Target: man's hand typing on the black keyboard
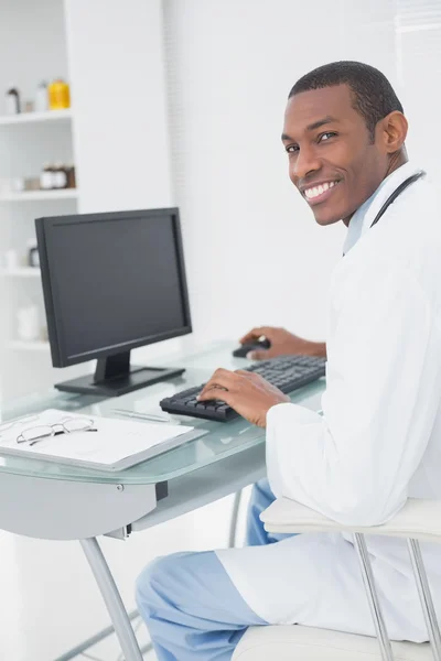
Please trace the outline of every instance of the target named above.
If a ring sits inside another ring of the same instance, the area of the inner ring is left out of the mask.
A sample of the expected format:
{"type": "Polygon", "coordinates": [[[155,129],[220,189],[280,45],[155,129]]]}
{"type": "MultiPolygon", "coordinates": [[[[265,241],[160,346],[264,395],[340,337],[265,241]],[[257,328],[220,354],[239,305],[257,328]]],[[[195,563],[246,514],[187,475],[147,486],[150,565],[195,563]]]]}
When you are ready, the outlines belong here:
{"type": "Polygon", "coordinates": [[[291,401],[260,375],[239,369],[217,369],[205,384],[200,401],[222,400],[257,426],[267,426],[267,413],[276,404],[291,401]]]}

